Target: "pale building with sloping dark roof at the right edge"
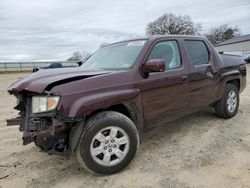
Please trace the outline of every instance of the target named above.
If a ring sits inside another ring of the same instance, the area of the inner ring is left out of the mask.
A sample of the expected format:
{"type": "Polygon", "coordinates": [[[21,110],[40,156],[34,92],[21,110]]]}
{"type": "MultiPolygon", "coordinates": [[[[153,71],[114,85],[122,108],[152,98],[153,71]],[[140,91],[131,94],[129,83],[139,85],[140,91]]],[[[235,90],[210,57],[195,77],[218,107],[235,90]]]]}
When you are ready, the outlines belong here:
{"type": "Polygon", "coordinates": [[[215,45],[215,49],[220,53],[240,55],[248,58],[250,57],[250,34],[226,40],[215,45]]]}

